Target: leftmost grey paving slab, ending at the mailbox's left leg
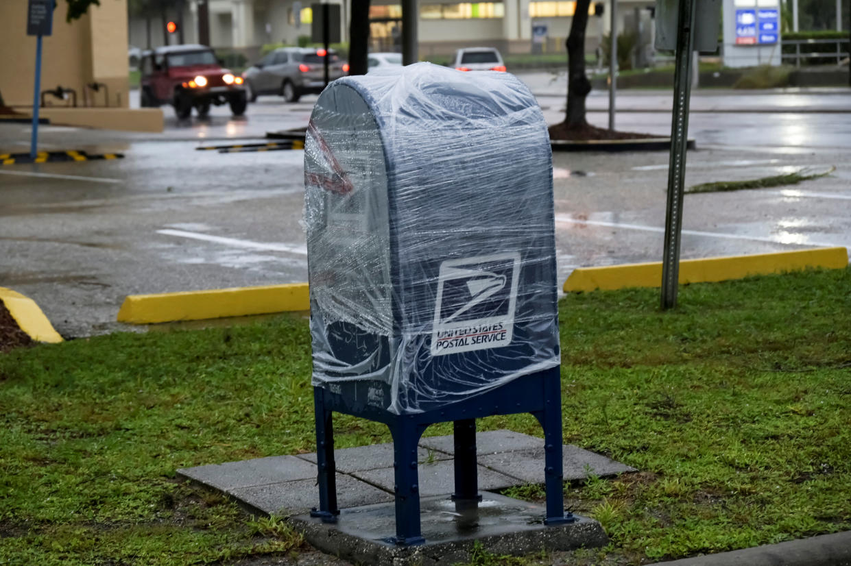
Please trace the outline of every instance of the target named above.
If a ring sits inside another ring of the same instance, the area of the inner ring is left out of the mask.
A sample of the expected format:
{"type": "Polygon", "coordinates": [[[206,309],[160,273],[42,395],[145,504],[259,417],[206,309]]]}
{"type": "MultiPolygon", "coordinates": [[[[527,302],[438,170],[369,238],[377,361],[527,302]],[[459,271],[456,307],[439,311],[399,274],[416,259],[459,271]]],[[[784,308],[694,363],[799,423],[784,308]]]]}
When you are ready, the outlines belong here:
{"type": "Polygon", "coordinates": [[[254,460],[231,461],[226,464],[189,467],[178,470],[184,478],[231,493],[239,488],[256,485],[280,484],[298,479],[317,477],[317,467],[295,456],[269,456],[254,460]]]}

